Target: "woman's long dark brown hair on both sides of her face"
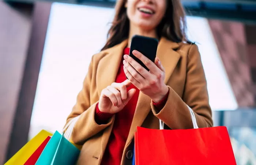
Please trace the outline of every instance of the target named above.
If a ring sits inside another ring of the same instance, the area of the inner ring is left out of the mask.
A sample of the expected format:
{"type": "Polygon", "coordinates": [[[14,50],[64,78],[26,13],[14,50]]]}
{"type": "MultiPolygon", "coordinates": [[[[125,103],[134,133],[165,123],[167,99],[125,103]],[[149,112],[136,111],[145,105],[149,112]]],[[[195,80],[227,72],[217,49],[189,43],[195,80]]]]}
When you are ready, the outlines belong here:
{"type": "MultiPolygon", "coordinates": [[[[113,47],[129,35],[129,19],[126,13],[125,3],[127,0],[118,0],[115,7],[115,15],[108,31],[108,39],[101,50],[113,47]]],[[[173,42],[189,42],[186,36],[185,11],[180,0],[166,0],[167,8],[165,16],[157,27],[158,37],[165,37],[173,42]]]]}

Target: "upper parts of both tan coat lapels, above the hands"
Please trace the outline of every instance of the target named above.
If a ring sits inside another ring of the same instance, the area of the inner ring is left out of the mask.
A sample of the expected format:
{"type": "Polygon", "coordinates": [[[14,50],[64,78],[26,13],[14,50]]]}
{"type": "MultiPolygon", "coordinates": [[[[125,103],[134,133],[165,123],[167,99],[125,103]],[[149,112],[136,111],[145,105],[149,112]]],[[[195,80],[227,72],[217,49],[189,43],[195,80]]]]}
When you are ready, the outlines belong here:
{"type": "MultiPolygon", "coordinates": [[[[99,95],[103,89],[111,85],[111,83],[116,80],[123,50],[127,46],[127,43],[128,41],[124,40],[120,44],[102,52],[105,56],[99,61],[97,70],[97,87],[99,95]]],[[[165,68],[165,83],[170,78],[178,60],[180,59],[180,54],[174,51],[179,46],[180,44],[167,40],[166,38],[161,38],[159,42],[157,56],[165,68]]]]}

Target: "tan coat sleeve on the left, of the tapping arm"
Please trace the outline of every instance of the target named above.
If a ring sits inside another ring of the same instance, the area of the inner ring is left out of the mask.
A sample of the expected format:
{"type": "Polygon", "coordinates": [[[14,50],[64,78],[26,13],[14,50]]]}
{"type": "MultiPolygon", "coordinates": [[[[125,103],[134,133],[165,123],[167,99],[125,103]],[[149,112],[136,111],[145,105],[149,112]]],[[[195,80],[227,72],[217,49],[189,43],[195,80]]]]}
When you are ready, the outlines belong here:
{"type": "Polygon", "coordinates": [[[113,117],[106,124],[98,125],[95,122],[95,109],[98,102],[91,105],[90,101],[91,79],[94,68],[92,58],[83,82],[83,88],[77,96],[76,104],[64,127],[64,135],[69,134],[69,140],[75,144],[83,144],[88,138],[99,133],[113,122],[113,117]]]}

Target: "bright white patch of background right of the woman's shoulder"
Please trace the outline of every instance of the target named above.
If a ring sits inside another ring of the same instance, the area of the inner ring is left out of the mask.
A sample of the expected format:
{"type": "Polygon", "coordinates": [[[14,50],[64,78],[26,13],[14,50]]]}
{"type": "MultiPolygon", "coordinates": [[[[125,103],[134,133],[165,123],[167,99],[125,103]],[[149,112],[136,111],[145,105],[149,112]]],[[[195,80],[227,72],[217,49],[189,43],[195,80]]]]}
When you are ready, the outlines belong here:
{"type": "Polygon", "coordinates": [[[187,17],[187,22],[189,39],[196,42],[201,53],[212,110],[237,109],[237,101],[207,19],[187,17]]]}

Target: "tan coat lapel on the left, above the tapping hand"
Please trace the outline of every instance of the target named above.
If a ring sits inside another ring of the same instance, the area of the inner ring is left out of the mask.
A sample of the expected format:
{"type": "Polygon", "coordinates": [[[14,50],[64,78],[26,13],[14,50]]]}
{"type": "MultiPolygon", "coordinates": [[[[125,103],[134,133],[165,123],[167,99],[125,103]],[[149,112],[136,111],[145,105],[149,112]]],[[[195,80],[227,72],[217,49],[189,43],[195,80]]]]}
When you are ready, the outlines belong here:
{"type": "Polygon", "coordinates": [[[127,46],[127,40],[105,50],[105,56],[99,61],[96,73],[98,94],[111,83],[115,82],[118,68],[123,56],[123,50],[127,46]]]}

